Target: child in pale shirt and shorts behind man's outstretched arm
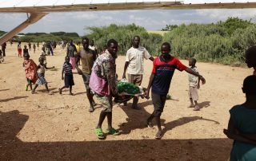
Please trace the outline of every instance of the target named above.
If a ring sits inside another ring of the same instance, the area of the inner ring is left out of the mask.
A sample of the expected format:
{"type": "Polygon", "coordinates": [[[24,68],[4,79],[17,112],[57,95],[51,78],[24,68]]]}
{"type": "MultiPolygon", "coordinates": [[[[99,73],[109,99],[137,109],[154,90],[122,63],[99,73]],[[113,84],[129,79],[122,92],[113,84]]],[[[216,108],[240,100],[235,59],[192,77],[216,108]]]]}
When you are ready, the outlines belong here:
{"type": "MultiPolygon", "coordinates": [[[[195,66],[197,60],[195,58],[190,58],[189,65],[190,69],[195,73],[198,73],[198,69],[195,66]]],[[[199,73],[198,73],[199,74],[199,73]]],[[[200,88],[200,80],[198,77],[189,73],[189,96],[190,96],[190,108],[194,107],[194,111],[199,111],[200,107],[198,106],[198,89],[200,88]]]]}

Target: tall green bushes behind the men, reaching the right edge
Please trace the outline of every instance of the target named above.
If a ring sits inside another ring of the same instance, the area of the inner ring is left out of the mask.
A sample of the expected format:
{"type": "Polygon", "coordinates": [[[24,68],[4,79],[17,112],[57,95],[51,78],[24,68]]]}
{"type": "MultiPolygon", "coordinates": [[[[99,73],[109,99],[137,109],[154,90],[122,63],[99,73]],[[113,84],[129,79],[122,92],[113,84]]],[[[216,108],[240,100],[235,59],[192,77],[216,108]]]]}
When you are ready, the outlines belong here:
{"type": "Polygon", "coordinates": [[[162,42],[171,43],[173,54],[186,59],[218,62],[224,65],[242,65],[248,47],[256,45],[256,24],[239,18],[228,18],[225,22],[166,26],[163,36],[147,33],[146,29],[133,25],[89,27],[87,37],[94,39],[99,47],[114,38],[119,43],[119,52],[125,54],[134,35],[141,37],[141,45],[154,56],[160,54],[162,42]]]}

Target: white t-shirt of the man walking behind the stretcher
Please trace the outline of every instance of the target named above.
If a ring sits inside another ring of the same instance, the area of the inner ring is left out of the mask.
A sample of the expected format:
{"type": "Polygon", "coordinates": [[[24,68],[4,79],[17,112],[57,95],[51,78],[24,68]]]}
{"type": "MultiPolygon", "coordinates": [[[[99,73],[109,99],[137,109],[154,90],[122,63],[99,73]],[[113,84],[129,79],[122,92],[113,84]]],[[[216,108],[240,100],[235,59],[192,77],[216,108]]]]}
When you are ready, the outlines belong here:
{"type": "Polygon", "coordinates": [[[150,53],[146,48],[139,46],[138,49],[131,47],[126,53],[126,61],[129,61],[127,68],[128,74],[143,74],[144,73],[144,59],[149,59],[150,53]]]}

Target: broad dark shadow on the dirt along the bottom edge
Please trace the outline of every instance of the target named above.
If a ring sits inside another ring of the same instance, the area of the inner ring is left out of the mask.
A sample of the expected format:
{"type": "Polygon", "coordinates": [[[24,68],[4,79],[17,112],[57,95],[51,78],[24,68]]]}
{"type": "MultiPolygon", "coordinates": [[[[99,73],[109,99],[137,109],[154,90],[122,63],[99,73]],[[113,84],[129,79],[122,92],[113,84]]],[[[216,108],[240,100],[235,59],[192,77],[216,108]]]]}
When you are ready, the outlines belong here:
{"type": "Polygon", "coordinates": [[[226,160],[232,144],[229,139],[22,142],[16,135],[28,119],[17,110],[0,112],[0,160],[226,160]]]}

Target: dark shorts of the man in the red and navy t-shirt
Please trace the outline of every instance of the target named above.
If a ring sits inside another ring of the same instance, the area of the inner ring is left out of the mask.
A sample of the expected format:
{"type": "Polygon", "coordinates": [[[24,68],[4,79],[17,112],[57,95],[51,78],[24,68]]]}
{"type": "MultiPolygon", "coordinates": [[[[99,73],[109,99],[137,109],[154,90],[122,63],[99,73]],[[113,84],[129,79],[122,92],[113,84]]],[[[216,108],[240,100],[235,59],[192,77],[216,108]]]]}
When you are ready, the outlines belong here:
{"type": "Polygon", "coordinates": [[[151,92],[152,102],[154,104],[154,116],[160,117],[163,111],[163,108],[166,104],[166,95],[159,95],[154,92],[151,92]]]}

